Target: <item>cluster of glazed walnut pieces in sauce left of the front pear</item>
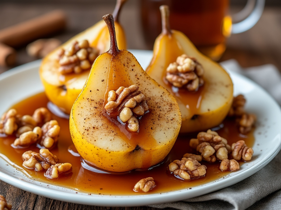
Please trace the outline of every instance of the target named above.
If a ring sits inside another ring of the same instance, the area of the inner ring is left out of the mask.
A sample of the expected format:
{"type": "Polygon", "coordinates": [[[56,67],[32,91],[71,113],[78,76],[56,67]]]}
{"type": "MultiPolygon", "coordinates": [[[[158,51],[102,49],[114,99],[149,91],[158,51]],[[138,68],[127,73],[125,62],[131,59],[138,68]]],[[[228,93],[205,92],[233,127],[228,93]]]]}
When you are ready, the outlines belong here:
{"type": "Polygon", "coordinates": [[[69,163],[58,164],[58,158],[48,150],[56,146],[60,133],[60,126],[56,120],[52,120],[48,109],[38,108],[32,116],[22,116],[16,109],[10,109],[1,117],[0,133],[14,134],[17,138],[12,146],[15,148],[26,148],[35,143],[46,148],[40,149],[39,153],[31,150],[24,152],[22,154],[24,167],[45,171],[48,178],[58,178],[59,174],[71,169],[69,163]]]}

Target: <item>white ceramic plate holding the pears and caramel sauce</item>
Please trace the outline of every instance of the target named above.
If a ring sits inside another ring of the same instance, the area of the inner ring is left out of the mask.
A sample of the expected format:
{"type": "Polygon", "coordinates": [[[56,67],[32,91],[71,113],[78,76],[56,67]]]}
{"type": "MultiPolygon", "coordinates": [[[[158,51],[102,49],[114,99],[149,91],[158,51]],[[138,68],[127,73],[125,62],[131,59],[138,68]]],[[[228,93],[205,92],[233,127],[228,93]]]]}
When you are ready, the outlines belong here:
{"type": "MultiPolygon", "coordinates": [[[[152,52],[143,50],[130,51],[145,69],[149,64],[152,52]]],[[[0,75],[0,115],[16,102],[43,91],[38,75],[39,65],[40,60],[16,67],[0,75]],[[8,103],[3,103],[3,101],[8,101],[8,103]]],[[[6,161],[8,160],[5,161],[0,158],[0,179],[22,190],[52,199],[95,206],[144,206],[172,202],[203,195],[233,185],[259,171],[279,152],[281,148],[281,111],[273,98],[253,81],[239,74],[229,73],[234,82],[234,94],[241,93],[245,95],[247,99],[246,109],[257,115],[259,125],[255,130],[253,160],[243,164],[239,171],[230,173],[226,178],[192,187],[192,189],[162,194],[134,196],[88,195],[87,193],[76,193],[74,190],[31,180],[25,174],[7,164],[6,161]]]]}

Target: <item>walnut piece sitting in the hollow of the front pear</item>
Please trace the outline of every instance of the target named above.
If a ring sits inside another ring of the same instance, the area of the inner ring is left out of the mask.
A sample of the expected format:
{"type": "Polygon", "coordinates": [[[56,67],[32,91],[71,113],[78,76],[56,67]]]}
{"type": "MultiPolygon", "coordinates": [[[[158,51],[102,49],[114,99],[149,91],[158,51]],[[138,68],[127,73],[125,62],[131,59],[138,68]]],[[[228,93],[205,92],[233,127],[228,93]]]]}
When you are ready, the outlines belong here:
{"type": "Polygon", "coordinates": [[[121,86],[116,91],[110,90],[107,101],[105,104],[107,113],[119,116],[123,123],[128,123],[129,130],[133,132],[139,130],[137,118],[148,111],[148,105],[138,85],[127,88],[121,86]]]}

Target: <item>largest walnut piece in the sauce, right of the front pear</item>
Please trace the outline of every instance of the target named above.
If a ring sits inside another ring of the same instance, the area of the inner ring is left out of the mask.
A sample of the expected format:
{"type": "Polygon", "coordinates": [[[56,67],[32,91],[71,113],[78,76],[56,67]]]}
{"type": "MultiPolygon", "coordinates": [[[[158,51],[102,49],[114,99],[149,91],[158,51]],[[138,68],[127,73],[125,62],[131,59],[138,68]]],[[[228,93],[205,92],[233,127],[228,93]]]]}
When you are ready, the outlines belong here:
{"type": "Polygon", "coordinates": [[[191,139],[189,145],[200,152],[203,160],[208,162],[227,159],[228,153],[231,152],[227,140],[210,129],[198,133],[197,139],[191,139]]]}

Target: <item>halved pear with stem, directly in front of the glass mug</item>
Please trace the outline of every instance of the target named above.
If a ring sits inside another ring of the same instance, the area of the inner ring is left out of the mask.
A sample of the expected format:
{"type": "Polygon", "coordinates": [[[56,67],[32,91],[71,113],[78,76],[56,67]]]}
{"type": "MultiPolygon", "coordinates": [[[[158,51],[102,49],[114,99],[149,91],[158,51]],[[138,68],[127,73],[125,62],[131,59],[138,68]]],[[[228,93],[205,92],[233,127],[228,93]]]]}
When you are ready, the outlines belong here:
{"type": "Polygon", "coordinates": [[[200,53],[182,32],[170,29],[168,6],[162,5],[160,11],[162,32],[155,40],[153,58],[146,72],[169,90],[178,102],[182,113],[181,133],[216,127],[226,117],[232,104],[230,76],[218,63],[200,53]],[[203,66],[204,85],[197,91],[173,87],[166,80],[167,67],[183,54],[194,57],[203,66]]]}

